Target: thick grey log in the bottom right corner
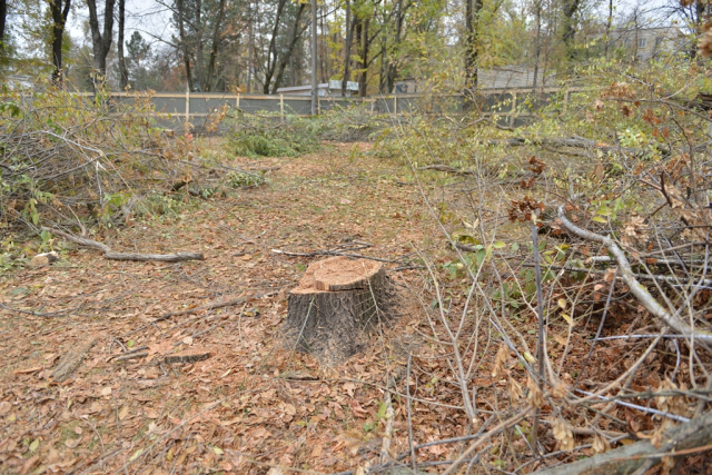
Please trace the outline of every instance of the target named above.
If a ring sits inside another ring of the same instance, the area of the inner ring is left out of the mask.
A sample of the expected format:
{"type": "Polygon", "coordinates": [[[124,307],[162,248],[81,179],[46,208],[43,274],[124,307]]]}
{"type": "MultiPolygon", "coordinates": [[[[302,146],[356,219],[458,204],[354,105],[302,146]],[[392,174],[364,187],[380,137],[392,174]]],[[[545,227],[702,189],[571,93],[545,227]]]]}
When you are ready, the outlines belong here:
{"type": "Polygon", "coordinates": [[[662,445],[655,447],[650,439],[625,445],[604,454],[553,468],[534,472],[537,475],[617,475],[631,474],[643,465],[660,463],[663,457],[684,456],[698,448],[710,449],[712,443],[712,413],[668,431],[662,445]]]}

